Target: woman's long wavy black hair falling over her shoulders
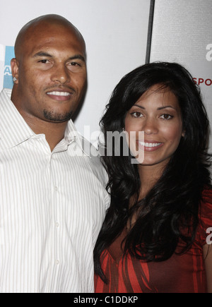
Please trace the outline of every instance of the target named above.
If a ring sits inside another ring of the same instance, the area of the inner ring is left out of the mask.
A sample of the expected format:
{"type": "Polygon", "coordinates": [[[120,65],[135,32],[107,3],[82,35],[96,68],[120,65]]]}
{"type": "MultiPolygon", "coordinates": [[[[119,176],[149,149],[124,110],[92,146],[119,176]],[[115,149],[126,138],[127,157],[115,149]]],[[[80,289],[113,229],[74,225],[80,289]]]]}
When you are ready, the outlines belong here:
{"type": "Polygon", "coordinates": [[[185,136],[155,186],[139,200],[142,185],[137,164],[131,155],[102,156],[109,175],[107,190],[111,205],[98,236],[94,251],[95,273],[106,282],[100,255],[122,233],[136,212],[136,223],[124,240],[124,253],[145,261],[163,261],[177,252],[179,239],[184,242],[179,252],[192,245],[199,224],[202,191],[211,185],[207,153],[209,123],[198,85],[190,73],[175,63],[155,62],[128,73],[112,92],[106,112],[100,121],[107,131],[122,132],[126,112],[153,85],[163,85],[178,99],[185,136]],[[134,205],[129,208],[129,200],[134,205]]]}

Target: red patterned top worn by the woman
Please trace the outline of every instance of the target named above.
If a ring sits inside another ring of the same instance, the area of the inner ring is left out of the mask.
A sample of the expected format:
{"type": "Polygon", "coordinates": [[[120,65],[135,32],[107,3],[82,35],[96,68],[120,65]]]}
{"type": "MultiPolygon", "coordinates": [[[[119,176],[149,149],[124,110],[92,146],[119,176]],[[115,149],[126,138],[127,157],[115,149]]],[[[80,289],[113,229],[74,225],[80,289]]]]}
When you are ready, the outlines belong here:
{"type": "Polygon", "coordinates": [[[184,255],[173,254],[160,263],[145,263],[124,256],[121,243],[126,230],[102,253],[102,270],[108,284],[95,275],[96,293],[206,293],[203,246],[212,227],[212,191],[204,191],[199,227],[192,248],[184,255]]]}

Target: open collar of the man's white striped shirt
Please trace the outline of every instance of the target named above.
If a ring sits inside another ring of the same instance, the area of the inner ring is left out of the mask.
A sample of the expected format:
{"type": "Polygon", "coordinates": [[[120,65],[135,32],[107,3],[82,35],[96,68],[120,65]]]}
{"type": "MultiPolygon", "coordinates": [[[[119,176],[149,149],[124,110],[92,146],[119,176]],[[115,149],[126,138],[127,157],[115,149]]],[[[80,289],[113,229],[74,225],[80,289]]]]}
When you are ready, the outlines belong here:
{"type": "MultiPolygon", "coordinates": [[[[32,137],[36,138],[37,135],[25,122],[13,102],[11,102],[11,90],[2,90],[0,93],[1,148],[13,148],[32,137]]],[[[67,124],[64,140],[68,145],[76,141],[81,151],[90,157],[88,145],[84,145],[83,137],[76,131],[73,121],[71,120],[67,124]]]]}

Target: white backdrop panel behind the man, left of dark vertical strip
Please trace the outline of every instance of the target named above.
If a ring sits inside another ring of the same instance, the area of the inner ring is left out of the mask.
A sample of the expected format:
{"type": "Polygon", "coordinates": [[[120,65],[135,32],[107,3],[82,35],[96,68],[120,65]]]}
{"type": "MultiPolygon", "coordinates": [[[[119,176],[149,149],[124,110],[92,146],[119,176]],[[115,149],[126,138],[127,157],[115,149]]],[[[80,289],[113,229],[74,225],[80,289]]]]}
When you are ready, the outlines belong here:
{"type": "Polygon", "coordinates": [[[0,1],[0,90],[9,73],[4,66],[6,46],[14,45],[29,20],[57,13],[81,31],[87,45],[88,91],[75,124],[93,143],[114,86],[145,62],[150,0],[0,1]],[[90,126],[90,133],[84,126],[90,126]]]}

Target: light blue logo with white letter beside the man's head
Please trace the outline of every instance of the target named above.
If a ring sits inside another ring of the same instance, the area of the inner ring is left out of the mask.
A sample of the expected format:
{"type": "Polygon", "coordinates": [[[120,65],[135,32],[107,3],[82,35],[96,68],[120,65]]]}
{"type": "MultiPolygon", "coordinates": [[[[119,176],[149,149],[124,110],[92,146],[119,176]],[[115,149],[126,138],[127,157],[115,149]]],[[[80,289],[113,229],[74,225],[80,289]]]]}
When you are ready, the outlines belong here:
{"type": "Polygon", "coordinates": [[[11,73],[11,59],[15,57],[14,47],[5,47],[5,61],[4,61],[4,88],[13,88],[13,76],[11,73]]]}

